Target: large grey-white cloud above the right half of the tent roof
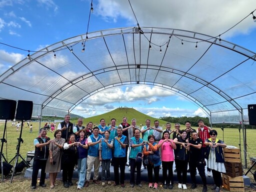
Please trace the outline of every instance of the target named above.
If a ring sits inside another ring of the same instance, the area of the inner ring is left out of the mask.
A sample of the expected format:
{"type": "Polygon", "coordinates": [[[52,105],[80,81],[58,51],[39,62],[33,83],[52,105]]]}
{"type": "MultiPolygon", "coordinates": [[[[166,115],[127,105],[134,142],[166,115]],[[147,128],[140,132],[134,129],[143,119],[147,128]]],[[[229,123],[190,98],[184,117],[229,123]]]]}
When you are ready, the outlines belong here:
{"type": "MultiPolygon", "coordinates": [[[[256,6],[255,0],[132,0],[130,3],[140,26],[184,29],[213,36],[236,24],[256,6]]],[[[109,20],[124,17],[128,20],[127,25],[136,25],[127,1],[99,0],[98,7],[98,14],[109,20]]],[[[246,33],[252,27],[255,25],[249,17],[227,34],[246,33]]]]}

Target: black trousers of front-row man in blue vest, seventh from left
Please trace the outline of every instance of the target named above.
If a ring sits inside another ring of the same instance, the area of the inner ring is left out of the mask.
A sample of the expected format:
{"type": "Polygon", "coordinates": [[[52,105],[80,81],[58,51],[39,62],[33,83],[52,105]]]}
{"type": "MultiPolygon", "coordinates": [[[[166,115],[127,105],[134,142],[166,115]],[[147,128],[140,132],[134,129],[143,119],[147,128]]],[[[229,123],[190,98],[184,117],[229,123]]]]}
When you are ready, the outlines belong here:
{"type": "Polygon", "coordinates": [[[114,182],[116,184],[124,184],[124,169],[126,163],[126,156],[125,157],[113,157],[112,161],[114,163],[114,182]],[[119,167],[120,167],[120,179],[119,179],[119,167]]]}

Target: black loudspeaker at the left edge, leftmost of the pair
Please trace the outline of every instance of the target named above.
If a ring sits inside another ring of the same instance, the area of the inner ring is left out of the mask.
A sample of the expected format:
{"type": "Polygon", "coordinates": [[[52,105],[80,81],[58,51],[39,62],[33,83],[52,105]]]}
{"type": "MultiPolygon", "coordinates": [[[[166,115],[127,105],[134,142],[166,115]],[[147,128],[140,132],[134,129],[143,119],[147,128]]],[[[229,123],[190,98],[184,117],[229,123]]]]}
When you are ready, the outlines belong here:
{"type": "Polygon", "coordinates": [[[0,100],[0,119],[13,119],[16,111],[15,100],[0,100]]]}

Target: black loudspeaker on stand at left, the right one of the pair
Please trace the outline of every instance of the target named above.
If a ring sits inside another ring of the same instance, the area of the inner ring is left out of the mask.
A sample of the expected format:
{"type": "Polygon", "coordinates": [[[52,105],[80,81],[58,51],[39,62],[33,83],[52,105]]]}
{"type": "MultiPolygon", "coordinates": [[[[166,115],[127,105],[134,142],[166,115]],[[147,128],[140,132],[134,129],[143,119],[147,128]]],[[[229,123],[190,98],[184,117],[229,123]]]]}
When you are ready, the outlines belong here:
{"type": "Polygon", "coordinates": [[[29,100],[18,100],[16,119],[30,120],[32,116],[33,102],[29,100]]]}

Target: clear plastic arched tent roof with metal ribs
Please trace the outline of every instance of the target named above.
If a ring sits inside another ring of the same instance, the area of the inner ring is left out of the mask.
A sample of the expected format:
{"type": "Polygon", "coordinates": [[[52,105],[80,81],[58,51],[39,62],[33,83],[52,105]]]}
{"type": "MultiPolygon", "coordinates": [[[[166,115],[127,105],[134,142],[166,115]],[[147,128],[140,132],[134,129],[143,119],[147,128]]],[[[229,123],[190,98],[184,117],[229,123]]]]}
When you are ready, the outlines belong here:
{"type": "Polygon", "coordinates": [[[141,30],[101,30],[41,49],[0,76],[0,97],[32,100],[33,116],[63,116],[102,90],[155,85],[194,102],[213,123],[247,121],[247,104],[256,103],[255,52],[192,31],[141,30]]]}

